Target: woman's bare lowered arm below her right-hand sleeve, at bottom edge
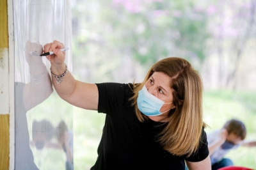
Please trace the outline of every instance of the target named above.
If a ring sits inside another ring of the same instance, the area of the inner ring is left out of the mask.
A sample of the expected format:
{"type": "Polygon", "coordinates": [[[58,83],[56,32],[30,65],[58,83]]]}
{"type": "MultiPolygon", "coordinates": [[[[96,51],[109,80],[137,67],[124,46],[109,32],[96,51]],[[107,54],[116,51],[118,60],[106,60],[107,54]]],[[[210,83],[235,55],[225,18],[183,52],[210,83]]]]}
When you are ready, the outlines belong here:
{"type": "Polygon", "coordinates": [[[211,160],[208,155],[207,158],[201,160],[200,162],[189,162],[185,160],[189,170],[211,170],[211,160]]]}

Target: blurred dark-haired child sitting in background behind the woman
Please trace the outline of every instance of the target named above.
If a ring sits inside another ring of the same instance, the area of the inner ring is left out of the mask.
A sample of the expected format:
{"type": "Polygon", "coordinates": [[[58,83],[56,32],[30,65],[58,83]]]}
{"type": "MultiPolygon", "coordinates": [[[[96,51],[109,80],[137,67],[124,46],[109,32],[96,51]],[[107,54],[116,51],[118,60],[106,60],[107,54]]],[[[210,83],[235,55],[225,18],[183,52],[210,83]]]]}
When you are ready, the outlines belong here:
{"type": "Polygon", "coordinates": [[[235,119],[227,121],[221,130],[207,134],[212,170],[234,165],[230,158],[224,158],[228,151],[239,146],[255,146],[253,144],[255,141],[244,142],[245,137],[246,127],[244,123],[235,119]]]}

